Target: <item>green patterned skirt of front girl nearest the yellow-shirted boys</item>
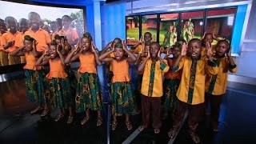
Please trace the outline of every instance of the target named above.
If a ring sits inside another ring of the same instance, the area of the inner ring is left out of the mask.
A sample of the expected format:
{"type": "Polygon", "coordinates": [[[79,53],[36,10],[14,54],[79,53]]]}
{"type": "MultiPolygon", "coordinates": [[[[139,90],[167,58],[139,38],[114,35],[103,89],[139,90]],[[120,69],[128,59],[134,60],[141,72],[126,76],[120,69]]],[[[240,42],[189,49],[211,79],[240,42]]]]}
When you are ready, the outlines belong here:
{"type": "Polygon", "coordinates": [[[130,82],[114,82],[111,85],[112,114],[136,114],[134,94],[130,82]]]}

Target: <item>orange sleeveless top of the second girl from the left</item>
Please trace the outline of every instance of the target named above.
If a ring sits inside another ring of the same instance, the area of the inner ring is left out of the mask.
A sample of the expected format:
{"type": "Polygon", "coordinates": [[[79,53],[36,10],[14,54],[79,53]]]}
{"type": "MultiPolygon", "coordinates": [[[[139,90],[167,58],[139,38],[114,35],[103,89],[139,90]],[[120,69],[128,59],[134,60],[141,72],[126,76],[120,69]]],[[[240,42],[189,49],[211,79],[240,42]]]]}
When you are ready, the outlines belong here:
{"type": "Polygon", "coordinates": [[[46,78],[66,78],[65,66],[62,65],[61,59],[52,60],[49,59],[50,72],[46,75],[46,78]]]}

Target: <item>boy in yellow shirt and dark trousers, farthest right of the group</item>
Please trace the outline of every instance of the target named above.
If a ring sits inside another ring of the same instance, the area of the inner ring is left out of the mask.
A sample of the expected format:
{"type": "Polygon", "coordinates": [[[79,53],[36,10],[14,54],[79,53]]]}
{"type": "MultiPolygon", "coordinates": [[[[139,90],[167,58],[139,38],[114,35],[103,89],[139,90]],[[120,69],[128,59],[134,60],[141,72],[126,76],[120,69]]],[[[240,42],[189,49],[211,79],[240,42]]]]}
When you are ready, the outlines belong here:
{"type": "MultiPolygon", "coordinates": [[[[218,67],[218,74],[206,75],[206,97],[210,98],[211,124],[214,132],[218,132],[218,116],[222,96],[226,93],[228,71],[235,73],[237,66],[230,55],[230,44],[226,40],[218,41],[215,46],[214,60],[218,67]]],[[[208,103],[206,103],[207,106],[208,103]]]]}

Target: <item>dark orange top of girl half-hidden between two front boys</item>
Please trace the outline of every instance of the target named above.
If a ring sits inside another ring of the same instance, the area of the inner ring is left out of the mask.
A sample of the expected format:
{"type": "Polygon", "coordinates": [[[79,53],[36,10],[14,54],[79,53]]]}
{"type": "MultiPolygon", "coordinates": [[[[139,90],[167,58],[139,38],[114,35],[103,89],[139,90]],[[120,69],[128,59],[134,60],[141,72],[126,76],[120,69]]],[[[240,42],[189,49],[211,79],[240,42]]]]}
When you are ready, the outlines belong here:
{"type": "MultiPolygon", "coordinates": [[[[168,66],[172,67],[174,66],[174,60],[171,58],[167,59],[168,66]]],[[[171,69],[168,70],[168,72],[165,74],[165,78],[168,79],[181,79],[182,78],[182,70],[178,70],[177,72],[172,71],[171,69]]]]}

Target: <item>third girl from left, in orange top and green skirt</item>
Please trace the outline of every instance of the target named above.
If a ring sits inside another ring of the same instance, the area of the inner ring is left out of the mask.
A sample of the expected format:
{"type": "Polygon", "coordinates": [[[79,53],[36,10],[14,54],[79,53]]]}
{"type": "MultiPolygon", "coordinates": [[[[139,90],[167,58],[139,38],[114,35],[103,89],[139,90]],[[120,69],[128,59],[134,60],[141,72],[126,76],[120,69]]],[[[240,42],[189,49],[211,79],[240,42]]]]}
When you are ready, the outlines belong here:
{"type": "Polygon", "coordinates": [[[98,54],[92,43],[90,33],[83,34],[81,47],[77,46],[66,57],[65,63],[80,60],[78,69],[78,86],[75,98],[78,113],[86,111],[86,117],[82,119],[81,125],[86,124],[90,118],[90,110],[97,110],[97,126],[102,125],[102,91],[99,84],[96,66],[102,65],[98,60],[98,54]]]}

